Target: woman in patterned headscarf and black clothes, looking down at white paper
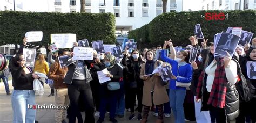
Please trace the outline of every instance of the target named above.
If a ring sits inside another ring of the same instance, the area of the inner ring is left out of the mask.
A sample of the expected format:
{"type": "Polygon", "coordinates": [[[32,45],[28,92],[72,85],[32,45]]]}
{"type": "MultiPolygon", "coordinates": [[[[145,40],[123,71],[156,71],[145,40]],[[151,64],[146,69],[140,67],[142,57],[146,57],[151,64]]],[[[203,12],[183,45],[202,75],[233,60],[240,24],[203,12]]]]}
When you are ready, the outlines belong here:
{"type": "Polygon", "coordinates": [[[107,108],[110,110],[110,121],[117,122],[114,118],[116,113],[117,95],[119,90],[108,90],[107,83],[109,82],[119,82],[123,77],[123,70],[117,64],[117,59],[113,55],[106,55],[105,57],[105,67],[110,74],[111,80],[100,85],[100,107],[99,107],[99,120],[97,123],[103,122],[107,108]]]}

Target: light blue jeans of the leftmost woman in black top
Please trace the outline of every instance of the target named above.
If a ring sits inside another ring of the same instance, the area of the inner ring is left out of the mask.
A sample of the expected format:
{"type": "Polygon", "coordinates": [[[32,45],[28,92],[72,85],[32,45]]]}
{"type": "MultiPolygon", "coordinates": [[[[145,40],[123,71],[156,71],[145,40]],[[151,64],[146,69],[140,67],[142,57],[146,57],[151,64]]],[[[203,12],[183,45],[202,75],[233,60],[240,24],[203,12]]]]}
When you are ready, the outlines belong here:
{"type": "Polygon", "coordinates": [[[35,91],[14,90],[11,95],[12,110],[14,111],[14,123],[35,122],[36,110],[29,109],[28,105],[36,105],[35,91]]]}

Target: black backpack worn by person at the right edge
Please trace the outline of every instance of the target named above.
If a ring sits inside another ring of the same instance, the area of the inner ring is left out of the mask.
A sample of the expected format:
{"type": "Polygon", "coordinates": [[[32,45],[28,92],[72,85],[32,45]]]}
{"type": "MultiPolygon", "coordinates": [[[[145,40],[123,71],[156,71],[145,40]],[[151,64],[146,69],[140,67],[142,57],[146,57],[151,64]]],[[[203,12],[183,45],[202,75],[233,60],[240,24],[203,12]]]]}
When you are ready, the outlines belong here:
{"type": "Polygon", "coordinates": [[[235,83],[235,88],[239,93],[239,100],[242,102],[250,101],[255,92],[255,88],[252,85],[250,79],[246,79],[245,76],[242,74],[241,67],[237,60],[232,59],[237,63],[237,75],[239,77],[238,82],[235,83]]]}

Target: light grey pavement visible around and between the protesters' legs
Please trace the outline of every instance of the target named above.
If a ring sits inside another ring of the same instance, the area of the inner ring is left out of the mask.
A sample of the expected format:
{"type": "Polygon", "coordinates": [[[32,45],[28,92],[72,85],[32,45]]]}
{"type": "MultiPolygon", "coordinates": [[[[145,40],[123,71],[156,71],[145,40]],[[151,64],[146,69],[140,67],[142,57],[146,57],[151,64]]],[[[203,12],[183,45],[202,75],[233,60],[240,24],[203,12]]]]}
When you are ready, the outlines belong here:
{"type": "MultiPolygon", "coordinates": [[[[9,88],[12,92],[12,81],[9,81],[9,88]]],[[[55,105],[55,99],[54,96],[48,97],[50,94],[51,89],[48,85],[44,84],[44,95],[43,96],[36,96],[36,104],[39,105],[55,105]]],[[[137,117],[137,112],[136,117],[137,117]]],[[[82,113],[84,117],[84,113],[82,113]]],[[[125,112],[124,118],[116,118],[118,122],[139,122],[137,118],[134,118],[133,120],[129,120],[128,117],[130,115],[130,112],[125,112]]],[[[153,112],[150,112],[148,123],[155,122],[157,117],[153,116],[153,112]]],[[[37,109],[36,111],[36,120],[40,123],[53,123],[55,122],[55,110],[53,109],[37,109]]],[[[95,117],[95,120],[98,120],[98,117],[95,117]]],[[[68,119],[65,119],[66,122],[68,122],[68,119]]],[[[11,96],[6,95],[5,88],[3,82],[0,82],[0,122],[1,123],[9,123],[12,122],[12,107],[11,107],[11,96]]],[[[109,114],[106,113],[105,115],[105,122],[109,123],[109,114]]],[[[174,122],[174,117],[171,115],[170,118],[164,118],[164,122],[174,122]]],[[[190,122],[194,123],[194,122],[190,122]]]]}

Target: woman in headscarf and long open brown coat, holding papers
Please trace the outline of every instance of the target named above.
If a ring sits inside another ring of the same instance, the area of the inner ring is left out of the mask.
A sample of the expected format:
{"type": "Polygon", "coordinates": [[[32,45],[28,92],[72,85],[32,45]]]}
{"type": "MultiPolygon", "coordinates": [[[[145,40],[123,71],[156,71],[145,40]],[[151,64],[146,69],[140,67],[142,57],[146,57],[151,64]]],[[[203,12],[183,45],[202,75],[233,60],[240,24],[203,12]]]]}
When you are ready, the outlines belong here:
{"type": "MultiPolygon", "coordinates": [[[[164,54],[164,53],[163,53],[164,54]]],[[[168,95],[165,86],[161,85],[161,77],[159,74],[152,74],[163,62],[156,60],[156,54],[153,50],[146,52],[146,63],[143,63],[140,67],[140,78],[144,80],[142,104],[144,105],[142,123],[147,122],[150,106],[153,104],[158,107],[158,119],[156,122],[163,122],[163,104],[168,102],[168,95]],[[153,97],[151,96],[153,92],[153,97]]]]}

